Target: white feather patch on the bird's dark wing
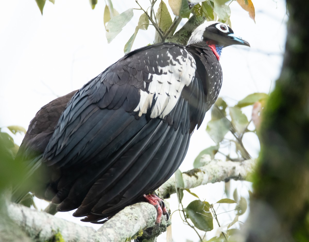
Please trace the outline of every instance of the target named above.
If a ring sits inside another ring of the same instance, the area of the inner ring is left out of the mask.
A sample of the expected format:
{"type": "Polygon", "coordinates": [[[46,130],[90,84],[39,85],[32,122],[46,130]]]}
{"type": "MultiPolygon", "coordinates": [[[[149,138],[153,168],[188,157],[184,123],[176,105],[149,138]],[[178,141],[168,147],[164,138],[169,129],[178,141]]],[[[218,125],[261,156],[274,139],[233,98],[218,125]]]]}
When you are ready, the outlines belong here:
{"type": "MultiPolygon", "coordinates": [[[[138,106],[134,109],[134,111],[139,111],[139,116],[147,112],[154,100],[155,103],[150,117],[164,118],[175,107],[184,86],[188,86],[194,79],[196,71],[195,60],[187,50],[180,49],[180,51],[182,55],[177,56],[176,59],[167,52],[169,61],[176,65],[158,66],[159,72],[162,73],[159,75],[149,73],[148,78],[151,79],[152,77],[152,81],[149,83],[146,91],[139,91],[141,98],[138,106]],[[183,56],[187,56],[187,58],[183,56]]],[[[144,87],[146,87],[146,82],[144,82],[144,87]]]]}

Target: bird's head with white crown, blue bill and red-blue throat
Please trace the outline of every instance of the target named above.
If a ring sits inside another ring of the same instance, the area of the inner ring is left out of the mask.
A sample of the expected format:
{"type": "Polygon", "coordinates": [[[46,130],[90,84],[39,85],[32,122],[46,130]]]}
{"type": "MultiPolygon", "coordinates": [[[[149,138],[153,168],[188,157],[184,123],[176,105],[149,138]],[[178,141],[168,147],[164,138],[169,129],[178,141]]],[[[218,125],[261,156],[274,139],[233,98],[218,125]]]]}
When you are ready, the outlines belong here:
{"type": "Polygon", "coordinates": [[[216,21],[205,21],[193,30],[188,45],[199,44],[209,45],[218,59],[223,47],[230,45],[245,45],[250,47],[249,43],[236,36],[229,26],[216,21]]]}

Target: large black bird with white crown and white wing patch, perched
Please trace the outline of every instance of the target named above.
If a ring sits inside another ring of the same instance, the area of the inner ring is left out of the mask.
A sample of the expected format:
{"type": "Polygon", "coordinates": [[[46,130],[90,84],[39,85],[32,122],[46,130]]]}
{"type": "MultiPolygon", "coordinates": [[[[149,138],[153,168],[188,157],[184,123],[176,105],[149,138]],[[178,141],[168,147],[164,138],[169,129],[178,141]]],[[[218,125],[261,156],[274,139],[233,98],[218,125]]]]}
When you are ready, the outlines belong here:
{"type": "Polygon", "coordinates": [[[104,223],[152,193],[178,169],[190,137],[218,98],[223,47],[250,46],[222,22],[205,21],[188,45],[133,50],[81,89],[37,112],[16,155],[28,190],[57,211],[104,223]]]}

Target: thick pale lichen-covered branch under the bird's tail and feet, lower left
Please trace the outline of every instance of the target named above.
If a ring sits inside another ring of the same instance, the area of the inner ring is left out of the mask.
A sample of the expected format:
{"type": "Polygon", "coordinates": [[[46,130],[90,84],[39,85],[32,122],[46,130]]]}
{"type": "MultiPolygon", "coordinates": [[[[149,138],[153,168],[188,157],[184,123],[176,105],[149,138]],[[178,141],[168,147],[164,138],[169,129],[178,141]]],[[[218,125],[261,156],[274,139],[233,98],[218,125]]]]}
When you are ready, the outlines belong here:
{"type": "Polygon", "coordinates": [[[129,241],[141,235],[143,228],[153,227],[157,216],[153,205],[137,203],[117,213],[96,231],[20,204],[9,204],[7,213],[35,241],[51,241],[60,233],[66,242],[129,241]]]}

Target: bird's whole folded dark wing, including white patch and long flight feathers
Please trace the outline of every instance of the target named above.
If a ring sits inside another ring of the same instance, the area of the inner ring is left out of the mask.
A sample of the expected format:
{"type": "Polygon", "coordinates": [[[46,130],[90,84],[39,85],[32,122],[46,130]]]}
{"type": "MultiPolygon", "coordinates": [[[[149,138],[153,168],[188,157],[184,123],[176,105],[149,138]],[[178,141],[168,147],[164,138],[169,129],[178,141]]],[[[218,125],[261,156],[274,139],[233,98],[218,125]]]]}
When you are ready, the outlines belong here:
{"type": "Polygon", "coordinates": [[[77,208],[87,193],[76,216],[123,206],[172,175],[188,147],[190,110],[180,94],[194,74],[183,46],[158,44],[126,55],[74,95],[43,157],[64,174],[51,188],[59,210],[77,208]]]}

